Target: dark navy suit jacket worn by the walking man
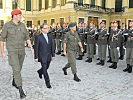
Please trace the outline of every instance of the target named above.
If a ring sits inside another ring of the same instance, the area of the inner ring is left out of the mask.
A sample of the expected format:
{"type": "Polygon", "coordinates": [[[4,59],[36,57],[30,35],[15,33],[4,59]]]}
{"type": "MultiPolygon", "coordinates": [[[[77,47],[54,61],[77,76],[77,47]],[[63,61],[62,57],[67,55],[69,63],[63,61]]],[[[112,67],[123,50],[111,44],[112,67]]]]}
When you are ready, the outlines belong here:
{"type": "Polygon", "coordinates": [[[41,33],[37,36],[35,40],[35,59],[38,58],[39,62],[46,63],[47,61],[51,61],[51,58],[55,56],[53,50],[52,36],[48,35],[48,43],[41,33]]]}

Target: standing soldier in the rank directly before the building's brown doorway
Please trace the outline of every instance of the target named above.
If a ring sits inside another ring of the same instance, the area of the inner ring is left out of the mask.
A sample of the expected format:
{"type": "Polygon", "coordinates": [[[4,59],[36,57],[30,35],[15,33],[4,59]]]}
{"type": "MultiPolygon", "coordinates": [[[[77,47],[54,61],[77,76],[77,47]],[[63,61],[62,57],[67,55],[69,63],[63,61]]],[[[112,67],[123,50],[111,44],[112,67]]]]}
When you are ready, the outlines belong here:
{"type": "Polygon", "coordinates": [[[92,62],[92,58],[94,58],[94,45],[96,43],[95,40],[95,27],[94,27],[94,23],[91,22],[90,23],[90,29],[87,33],[87,53],[88,53],[88,59],[86,60],[86,62],[91,63],[92,62]]]}

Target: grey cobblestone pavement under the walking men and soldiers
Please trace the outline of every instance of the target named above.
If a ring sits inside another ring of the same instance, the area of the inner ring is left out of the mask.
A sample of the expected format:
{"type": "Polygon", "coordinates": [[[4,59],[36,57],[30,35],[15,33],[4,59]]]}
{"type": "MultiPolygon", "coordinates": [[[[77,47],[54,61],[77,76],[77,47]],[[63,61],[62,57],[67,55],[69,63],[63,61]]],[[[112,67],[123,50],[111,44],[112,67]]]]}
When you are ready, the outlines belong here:
{"type": "MultiPolygon", "coordinates": [[[[73,81],[71,70],[64,76],[62,67],[67,62],[66,57],[56,55],[49,68],[52,89],[47,89],[44,80],[40,80],[37,70],[40,64],[35,64],[26,49],[25,62],[22,69],[23,89],[26,92],[24,100],[133,100],[133,73],[124,73],[125,61],[120,61],[116,70],[105,66],[97,66],[96,60],[89,64],[84,60],[77,61],[78,75],[81,82],[73,81]]],[[[97,57],[95,57],[96,59],[97,57]]],[[[11,85],[12,70],[0,57],[0,100],[19,100],[19,92],[11,85]]]]}

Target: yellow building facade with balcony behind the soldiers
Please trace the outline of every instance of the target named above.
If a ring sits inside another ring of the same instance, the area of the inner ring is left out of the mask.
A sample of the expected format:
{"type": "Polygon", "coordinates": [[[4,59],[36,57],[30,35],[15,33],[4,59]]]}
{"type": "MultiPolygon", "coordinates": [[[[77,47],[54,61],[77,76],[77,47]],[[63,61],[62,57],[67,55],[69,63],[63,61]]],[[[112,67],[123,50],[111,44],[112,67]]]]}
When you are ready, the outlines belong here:
{"type": "MultiPolygon", "coordinates": [[[[0,18],[5,23],[10,18],[13,0],[0,1],[4,12],[0,18]]],[[[117,20],[120,26],[124,22],[128,27],[133,19],[133,0],[18,0],[17,3],[27,26],[92,20],[98,25],[105,20],[109,27],[111,21],[117,20]]]]}

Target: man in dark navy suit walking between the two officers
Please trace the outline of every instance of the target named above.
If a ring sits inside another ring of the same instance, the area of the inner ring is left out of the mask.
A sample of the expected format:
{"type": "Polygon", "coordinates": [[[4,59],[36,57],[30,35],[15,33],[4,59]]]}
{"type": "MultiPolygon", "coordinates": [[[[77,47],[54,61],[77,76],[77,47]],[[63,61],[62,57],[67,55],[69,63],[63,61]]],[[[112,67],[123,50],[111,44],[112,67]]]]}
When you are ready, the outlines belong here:
{"type": "Polygon", "coordinates": [[[50,85],[50,79],[48,75],[48,68],[51,60],[55,57],[52,36],[48,34],[49,27],[47,24],[43,24],[40,26],[41,34],[35,40],[35,61],[40,62],[42,68],[37,72],[39,77],[42,79],[42,75],[44,76],[44,80],[47,88],[52,88],[50,85]]]}

